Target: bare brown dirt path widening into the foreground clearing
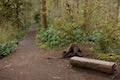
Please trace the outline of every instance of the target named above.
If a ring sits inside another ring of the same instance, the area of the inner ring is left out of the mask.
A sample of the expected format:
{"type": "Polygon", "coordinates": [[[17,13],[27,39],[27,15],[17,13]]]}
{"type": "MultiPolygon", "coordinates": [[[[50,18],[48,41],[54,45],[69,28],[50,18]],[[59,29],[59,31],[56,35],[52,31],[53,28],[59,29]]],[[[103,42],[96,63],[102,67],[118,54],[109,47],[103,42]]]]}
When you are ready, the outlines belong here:
{"type": "Polygon", "coordinates": [[[61,54],[39,49],[31,29],[16,52],[0,60],[0,80],[112,80],[112,75],[71,68],[67,59],[48,59],[61,54]]]}

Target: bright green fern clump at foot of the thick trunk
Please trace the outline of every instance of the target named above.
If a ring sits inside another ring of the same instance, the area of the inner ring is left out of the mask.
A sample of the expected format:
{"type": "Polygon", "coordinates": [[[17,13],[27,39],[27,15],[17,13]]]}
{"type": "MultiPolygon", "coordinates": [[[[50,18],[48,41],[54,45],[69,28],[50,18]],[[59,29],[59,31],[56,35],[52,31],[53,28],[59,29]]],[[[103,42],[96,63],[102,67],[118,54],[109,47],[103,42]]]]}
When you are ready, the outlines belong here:
{"type": "Polygon", "coordinates": [[[41,30],[37,34],[37,39],[45,43],[50,48],[60,47],[61,45],[61,39],[60,39],[59,32],[57,32],[52,27],[49,27],[45,31],[41,30]]]}

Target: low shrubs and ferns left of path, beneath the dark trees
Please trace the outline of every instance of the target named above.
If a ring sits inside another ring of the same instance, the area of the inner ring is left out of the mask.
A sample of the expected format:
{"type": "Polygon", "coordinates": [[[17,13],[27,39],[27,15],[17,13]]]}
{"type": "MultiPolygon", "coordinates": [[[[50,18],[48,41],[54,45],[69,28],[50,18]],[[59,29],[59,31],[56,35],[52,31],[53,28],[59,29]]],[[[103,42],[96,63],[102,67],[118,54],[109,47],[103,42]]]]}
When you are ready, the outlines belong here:
{"type": "Polygon", "coordinates": [[[4,27],[0,27],[0,56],[4,57],[15,50],[19,41],[25,36],[27,27],[18,29],[9,23],[2,26],[4,27]]]}

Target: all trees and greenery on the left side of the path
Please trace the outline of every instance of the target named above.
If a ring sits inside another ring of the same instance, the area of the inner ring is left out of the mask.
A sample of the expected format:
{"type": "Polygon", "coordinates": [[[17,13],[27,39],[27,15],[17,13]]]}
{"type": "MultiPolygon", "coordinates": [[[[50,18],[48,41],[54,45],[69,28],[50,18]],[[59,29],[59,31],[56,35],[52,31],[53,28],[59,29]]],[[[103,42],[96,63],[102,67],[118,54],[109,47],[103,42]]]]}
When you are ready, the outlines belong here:
{"type": "Polygon", "coordinates": [[[25,36],[30,9],[31,3],[25,0],[0,0],[0,56],[13,52],[25,36]]]}

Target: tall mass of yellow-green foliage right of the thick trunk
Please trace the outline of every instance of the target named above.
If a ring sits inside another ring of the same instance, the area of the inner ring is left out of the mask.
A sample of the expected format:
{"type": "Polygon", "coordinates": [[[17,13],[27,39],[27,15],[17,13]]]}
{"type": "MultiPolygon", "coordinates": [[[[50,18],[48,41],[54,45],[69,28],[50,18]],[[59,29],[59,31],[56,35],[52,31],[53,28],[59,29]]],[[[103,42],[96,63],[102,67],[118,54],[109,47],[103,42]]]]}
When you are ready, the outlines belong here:
{"type": "MultiPolygon", "coordinates": [[[[56,45],[59,47],[73,42],[93,42],[98,52],[120,53],[120,29],[117,29],[119,26],[116,22],[117,0],[61,0],[57,5],[53,0],[49,0],[47,15],[48,23],[53,27],[43,33],[39,31],[37,36],[45,35],[38,38],[38,41],[44,38],[43,42],[47,45],[47,42],[53,41],[53,44],[57,40],[56,45]],[[46,32],[49,30],[53,33],[46,32]],[[45,37],[46,35],[50,37],[45,37]]],[[[38,20],[38,17],[35,17],[35,20],[38,20]]]]}

